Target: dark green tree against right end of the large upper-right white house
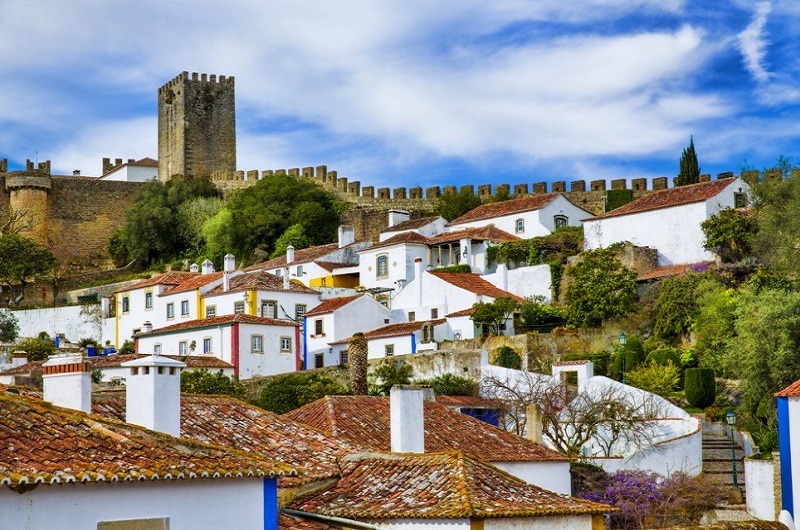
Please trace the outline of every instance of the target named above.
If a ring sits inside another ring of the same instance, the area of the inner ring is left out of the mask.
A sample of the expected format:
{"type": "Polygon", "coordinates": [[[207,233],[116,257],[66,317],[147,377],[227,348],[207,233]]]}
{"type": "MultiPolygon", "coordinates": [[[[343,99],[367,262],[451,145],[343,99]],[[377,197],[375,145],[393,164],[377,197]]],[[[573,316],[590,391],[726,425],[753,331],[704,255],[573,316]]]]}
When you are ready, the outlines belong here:
{"type": "Polygon", "coordinates": [[[700,226],[706,237],[703,247],[722,261],[737,262],[752,255],[752,240],[758,232],[758,224],[749,212],[725,208],[700,226]]]}

